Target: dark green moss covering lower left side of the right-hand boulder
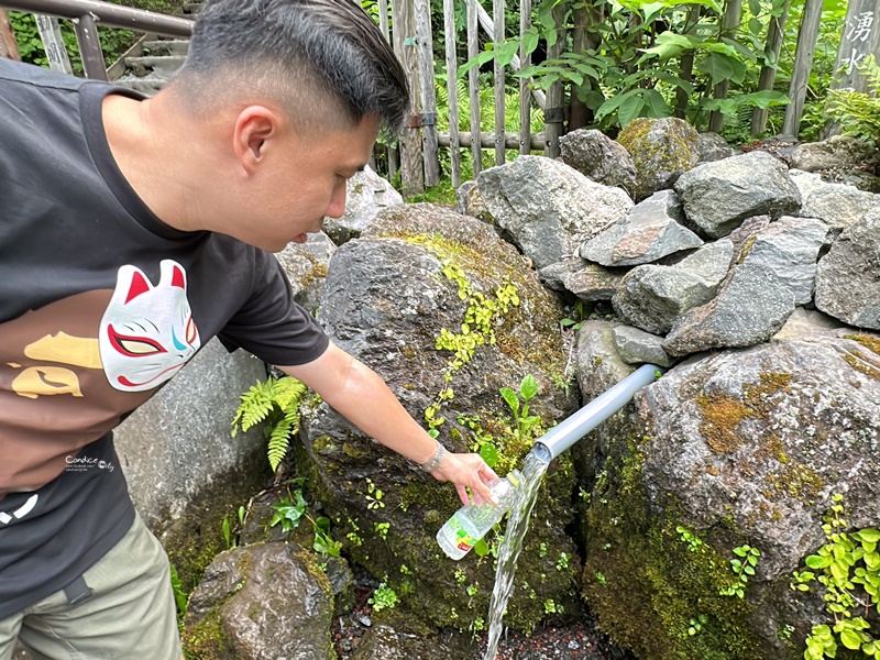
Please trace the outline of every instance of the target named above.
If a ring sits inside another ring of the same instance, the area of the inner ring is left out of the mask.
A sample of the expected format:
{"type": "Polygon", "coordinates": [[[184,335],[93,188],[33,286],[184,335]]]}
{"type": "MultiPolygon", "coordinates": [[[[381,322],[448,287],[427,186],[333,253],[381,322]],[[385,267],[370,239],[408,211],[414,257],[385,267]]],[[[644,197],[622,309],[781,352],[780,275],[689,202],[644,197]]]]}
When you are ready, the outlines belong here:
{"type": "Polygon", "coordinates": [[[718,595],[729,584],[727,557],[711,542],[693,551],[682,540],[674,502],[651,509],[636,442],[612,460],[587,513],[584,594],[603,630],[642,660],[738,660],[765,657],[747,619],[747,601],[718,595]],[[704,616],[698,635],[691,618],[704,616]]]}

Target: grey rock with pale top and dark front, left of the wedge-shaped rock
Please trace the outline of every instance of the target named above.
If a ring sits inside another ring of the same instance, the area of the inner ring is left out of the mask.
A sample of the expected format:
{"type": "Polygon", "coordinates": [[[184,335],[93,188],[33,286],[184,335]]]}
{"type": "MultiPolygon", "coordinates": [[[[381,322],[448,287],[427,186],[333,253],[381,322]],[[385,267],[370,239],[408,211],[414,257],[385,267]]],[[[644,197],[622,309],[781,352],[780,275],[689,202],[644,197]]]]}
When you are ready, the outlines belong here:
{"type": "Polygon", "coordinates": [[[672,266],[636,266],[612,298],[627,323],[666,334],[683,314],[708,302],[727,275],[734,246],[723,239],[701,248],[672,266]]]}

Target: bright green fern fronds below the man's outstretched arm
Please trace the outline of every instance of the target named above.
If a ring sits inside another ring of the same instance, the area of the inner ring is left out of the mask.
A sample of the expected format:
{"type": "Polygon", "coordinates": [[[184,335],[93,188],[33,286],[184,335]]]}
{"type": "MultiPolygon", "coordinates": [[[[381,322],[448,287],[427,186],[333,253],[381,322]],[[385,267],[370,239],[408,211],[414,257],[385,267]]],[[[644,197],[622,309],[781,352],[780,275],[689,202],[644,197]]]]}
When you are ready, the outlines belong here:
{"type": "Polygon", "coordinates": [[[241,404],[232,418],[232,437],[265,422],[264,433],[268,438],[267,457],[272,471],[287,453],[290,438],[299,431],[299,406],[308,388],[292,376],[270,376],[241,395],[241,404]]]}

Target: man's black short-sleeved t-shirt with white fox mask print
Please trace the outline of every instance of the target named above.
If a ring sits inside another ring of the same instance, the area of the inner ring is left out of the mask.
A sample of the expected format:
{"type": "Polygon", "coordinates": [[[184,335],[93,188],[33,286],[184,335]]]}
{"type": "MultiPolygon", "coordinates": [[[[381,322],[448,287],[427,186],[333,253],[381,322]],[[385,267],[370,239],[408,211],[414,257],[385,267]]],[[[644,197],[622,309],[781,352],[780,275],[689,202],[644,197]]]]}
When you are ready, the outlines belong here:
{"type": "Polygon", "coordinates": [[[150,211],[107,143],[111,92],[139,98],[0,58],[0,618],[124,535],[110,431],[211,337],[274,364],[328,345],[273,255],[150,211]]]}

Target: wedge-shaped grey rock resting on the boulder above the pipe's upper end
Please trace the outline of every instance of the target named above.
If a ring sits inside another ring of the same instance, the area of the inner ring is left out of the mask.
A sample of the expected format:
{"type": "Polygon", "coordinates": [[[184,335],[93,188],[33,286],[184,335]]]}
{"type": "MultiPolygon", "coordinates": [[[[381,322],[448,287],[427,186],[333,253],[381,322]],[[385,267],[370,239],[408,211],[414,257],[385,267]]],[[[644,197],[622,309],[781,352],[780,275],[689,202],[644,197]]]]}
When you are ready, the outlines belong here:
{"type": "Polygon", "coordinates": [[[737,266],[712,301],[681,317],[663,342],[671,355],[750,346],[776,334],[794,311],[794,294],[776,271],[737,266]]]}

